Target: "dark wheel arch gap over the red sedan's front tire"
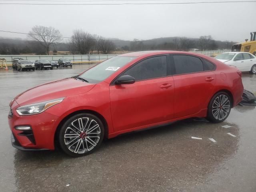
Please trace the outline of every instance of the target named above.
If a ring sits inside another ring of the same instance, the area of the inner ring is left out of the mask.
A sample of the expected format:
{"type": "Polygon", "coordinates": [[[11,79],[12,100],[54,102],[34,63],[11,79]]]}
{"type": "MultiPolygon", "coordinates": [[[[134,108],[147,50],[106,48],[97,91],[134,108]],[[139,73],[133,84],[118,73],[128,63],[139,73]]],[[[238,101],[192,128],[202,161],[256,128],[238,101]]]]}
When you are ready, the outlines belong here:
{"type": "Polygon", "coordinates": [[[77,111],[72,112],[72,113],[68,114],[67,116],[65,116],[58,124],[56,131],[54,133],[54,146],[56,146],[56,144],[58,144],[58,133],[60,132],[60,128],[62,127],[64,122],[71,116],[74,116],[74,115],[80,114],[80,113],[90,113],[90,114],[97,116],[102,121],[102,123],[104,125],[104,139],[108,138],[108,123],[107,123],[106,119],[100,113],[98,113],[94,110],[77,110],[77,111]]]}

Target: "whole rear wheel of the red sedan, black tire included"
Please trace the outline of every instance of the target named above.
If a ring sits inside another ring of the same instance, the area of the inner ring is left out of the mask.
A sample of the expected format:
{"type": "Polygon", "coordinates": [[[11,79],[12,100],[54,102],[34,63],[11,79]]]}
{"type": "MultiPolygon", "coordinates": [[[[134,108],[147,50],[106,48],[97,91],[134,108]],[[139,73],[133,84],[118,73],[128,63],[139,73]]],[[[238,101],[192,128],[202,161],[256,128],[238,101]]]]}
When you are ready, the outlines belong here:
{"type": "Polygon", "coordinates": [[[226,120],[232,108],[232,101],[226,92],[216,93],[208,105],[207,119],[213,123],[220,123],[226,120]],[[218,106],[217,103],[220,103],[218,106]],[[228,108],[229,105],[229,108],[228,108]]]}

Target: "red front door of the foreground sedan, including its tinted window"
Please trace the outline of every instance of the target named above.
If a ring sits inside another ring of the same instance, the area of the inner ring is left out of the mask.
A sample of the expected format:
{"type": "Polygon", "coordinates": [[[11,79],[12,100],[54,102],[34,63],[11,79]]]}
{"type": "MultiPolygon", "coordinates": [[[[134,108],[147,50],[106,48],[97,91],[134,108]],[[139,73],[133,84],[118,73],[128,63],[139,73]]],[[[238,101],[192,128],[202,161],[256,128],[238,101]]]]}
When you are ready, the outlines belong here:
{"type": "Polygon", "coordinates": [[[168,55],[137,62],[122,75],[133,76],[134,84],[110,86],[112,122],[115,131],[150,126],[173,118],[173,78],[168,55]]]}

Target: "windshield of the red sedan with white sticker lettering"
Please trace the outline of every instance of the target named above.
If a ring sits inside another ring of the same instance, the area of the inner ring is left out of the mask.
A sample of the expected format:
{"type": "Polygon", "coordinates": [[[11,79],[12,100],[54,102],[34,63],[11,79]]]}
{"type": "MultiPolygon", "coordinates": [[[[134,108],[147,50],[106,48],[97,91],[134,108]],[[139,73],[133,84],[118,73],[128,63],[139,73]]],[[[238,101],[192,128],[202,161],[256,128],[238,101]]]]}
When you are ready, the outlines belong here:
{"type": "Polygon", "coordinates": [[[132,61],[134,58],[136,57],[116,56],[110,58],[96,65],[95,67],[90,68],[79,77],[87,80],[89,83],[101,82],[119,70],[119,68],[132,61]]]}

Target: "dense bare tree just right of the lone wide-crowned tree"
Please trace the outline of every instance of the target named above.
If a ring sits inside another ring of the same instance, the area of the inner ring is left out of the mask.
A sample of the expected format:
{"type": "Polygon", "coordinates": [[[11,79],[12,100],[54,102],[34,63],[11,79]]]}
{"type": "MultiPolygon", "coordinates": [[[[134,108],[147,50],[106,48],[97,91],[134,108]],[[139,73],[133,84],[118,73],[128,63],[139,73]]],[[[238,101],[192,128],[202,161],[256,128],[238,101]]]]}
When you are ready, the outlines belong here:
{"type": "Polygon", "coordinates": [[[82,54],[87,54],[92,46],[95,44],[95,40],[93,36],[84,32],[83,30],[74,30],[74,34],[72,36],[74,38],[74,44],[76,45],[76,49],[82,54]]]}

